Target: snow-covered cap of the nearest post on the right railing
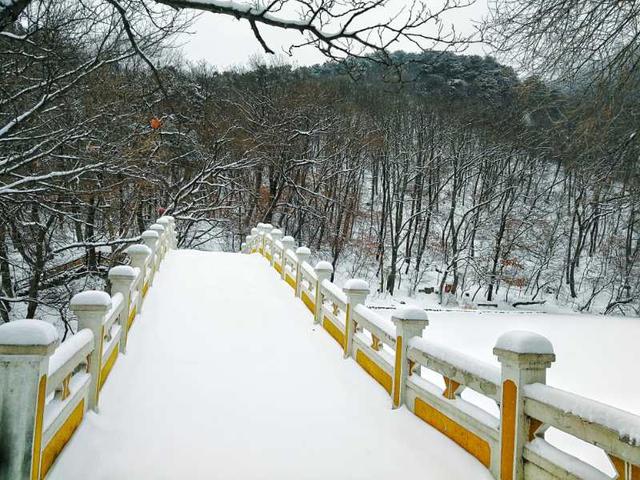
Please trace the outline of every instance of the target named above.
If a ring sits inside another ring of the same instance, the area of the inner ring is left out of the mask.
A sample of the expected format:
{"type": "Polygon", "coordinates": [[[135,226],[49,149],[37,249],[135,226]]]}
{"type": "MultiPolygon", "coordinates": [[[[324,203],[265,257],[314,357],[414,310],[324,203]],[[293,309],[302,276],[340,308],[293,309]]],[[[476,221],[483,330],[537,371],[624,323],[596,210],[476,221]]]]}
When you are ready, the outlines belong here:
{"type": "Polygon", "coordinates": [[[551,342],[542,335],[525,330],[513,330],[498,338],[493,354],[498,360],[515,360],[518,363],[551,366],[556,355],[551,342]]]}

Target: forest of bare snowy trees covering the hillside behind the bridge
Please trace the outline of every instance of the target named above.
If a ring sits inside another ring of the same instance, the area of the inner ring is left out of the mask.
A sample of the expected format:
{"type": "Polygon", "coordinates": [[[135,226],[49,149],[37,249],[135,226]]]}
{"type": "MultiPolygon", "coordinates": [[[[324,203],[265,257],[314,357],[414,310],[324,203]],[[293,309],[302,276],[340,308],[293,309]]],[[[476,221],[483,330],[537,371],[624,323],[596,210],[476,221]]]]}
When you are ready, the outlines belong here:
{"type": "Polygon", "coordinates": [[[548,72],[430,50],[217,72],[176,59],[182,14],[31,2],[0,32],[1,321],[64,321],[159,212],[183,248],[271,222],[380,292],[637,314],[638,37],[608,23],[580,62],[584,32],[544,48],[525,3],[488,34],[548,72]]]}

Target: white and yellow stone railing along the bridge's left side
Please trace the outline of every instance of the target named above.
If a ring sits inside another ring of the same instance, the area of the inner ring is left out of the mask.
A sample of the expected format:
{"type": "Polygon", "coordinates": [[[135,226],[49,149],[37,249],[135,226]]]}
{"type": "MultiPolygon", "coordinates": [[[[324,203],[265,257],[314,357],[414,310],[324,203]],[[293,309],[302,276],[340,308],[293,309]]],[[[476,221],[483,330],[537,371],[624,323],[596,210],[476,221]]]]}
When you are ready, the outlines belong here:
{"type": "Polygon", "coordinates": [[[169,249],[172,217],[161,217],[131,245],[130,265],[109,271],[111,294],[86,291],[71,299],[78,331],[63,343],[41,320],[0,326],[0,480],[43,479],[82,422],[98,411],[100,390],[169,249]]]}

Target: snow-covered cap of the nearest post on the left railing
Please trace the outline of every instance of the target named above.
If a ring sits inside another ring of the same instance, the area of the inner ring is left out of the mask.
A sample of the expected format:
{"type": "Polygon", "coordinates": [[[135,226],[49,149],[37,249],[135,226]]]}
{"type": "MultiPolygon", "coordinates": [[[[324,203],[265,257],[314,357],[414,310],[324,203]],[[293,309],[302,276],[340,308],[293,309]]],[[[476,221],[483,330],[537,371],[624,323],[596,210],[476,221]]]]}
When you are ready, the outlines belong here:
{"type": "Polygon", "coordinates": [[[42,320],[13,320],[0,325],[0,355],[50,355],[59,343],[55,327],[42,320]]]}

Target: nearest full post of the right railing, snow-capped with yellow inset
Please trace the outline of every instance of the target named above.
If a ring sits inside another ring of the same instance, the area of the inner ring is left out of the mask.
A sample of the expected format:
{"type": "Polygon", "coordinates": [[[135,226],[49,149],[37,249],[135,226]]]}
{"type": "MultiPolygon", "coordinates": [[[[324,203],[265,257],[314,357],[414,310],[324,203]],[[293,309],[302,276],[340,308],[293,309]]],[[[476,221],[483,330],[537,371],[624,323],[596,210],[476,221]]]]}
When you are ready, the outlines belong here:
{"type": "Polygon", "coordinates": [[[547,368],[555,361],[553,345],[542,335],[512,331],[498,338],[493,354],[502,366],[500,402],[500,480],[524,478],[523,452],[535,428],[524,414],[522,387],[546,383],[547,368]]]}

